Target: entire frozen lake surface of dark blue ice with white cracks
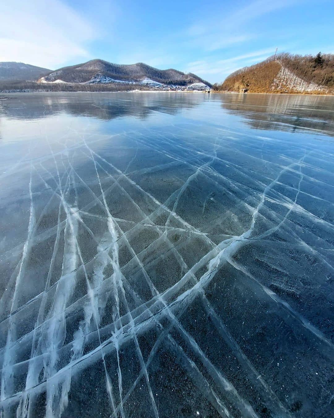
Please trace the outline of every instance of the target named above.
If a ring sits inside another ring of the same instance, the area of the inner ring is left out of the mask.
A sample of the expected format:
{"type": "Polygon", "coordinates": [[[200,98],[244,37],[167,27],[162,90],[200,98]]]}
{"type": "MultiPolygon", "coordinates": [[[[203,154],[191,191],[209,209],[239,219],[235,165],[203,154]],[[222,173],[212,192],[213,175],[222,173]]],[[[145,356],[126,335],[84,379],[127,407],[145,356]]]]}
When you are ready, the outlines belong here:
{"type": "Polygon", "coordinates": [[[333,97],[11,96],[1,416],[334,416],[333,97]]]}

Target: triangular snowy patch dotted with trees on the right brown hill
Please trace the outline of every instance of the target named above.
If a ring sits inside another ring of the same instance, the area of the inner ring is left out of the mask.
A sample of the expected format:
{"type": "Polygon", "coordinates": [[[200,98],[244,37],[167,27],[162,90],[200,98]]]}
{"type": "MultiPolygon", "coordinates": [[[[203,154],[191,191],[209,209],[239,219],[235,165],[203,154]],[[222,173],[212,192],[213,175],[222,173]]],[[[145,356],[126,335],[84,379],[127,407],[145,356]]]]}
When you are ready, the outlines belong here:
{"type": "Polygon", "coordinates": [[[281,69],[278,71],[278,74],[271,85],[271,89],[283,91],[289,90],[294,92],[325,92],[327,90],[319,84],[301,79],[283,65],[281,65],[281,69]]]}

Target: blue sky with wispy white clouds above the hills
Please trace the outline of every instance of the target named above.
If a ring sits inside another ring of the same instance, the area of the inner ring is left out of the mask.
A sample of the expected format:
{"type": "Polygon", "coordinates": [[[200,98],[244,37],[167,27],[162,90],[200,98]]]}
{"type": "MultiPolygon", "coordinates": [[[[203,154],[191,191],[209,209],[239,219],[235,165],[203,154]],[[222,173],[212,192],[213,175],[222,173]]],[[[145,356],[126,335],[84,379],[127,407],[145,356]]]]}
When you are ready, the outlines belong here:
{"type": "Polygon", "coordinates": [[[334,0],[2,2],[0,61],[48,69],[94,58],[221,82],[278,52],[334,53],[334,0]]]}

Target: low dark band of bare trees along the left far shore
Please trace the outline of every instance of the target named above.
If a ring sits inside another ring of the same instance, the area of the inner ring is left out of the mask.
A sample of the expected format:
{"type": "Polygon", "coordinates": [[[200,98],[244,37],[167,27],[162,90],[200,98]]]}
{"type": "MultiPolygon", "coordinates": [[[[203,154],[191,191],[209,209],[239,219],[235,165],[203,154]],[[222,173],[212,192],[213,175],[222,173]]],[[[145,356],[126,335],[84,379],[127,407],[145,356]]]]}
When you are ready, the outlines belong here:
{"type": "Polygon", "coordinates": [[[142,84],[66,84],[35,83],[23,80],[0,82],[0,92],[126,92],[129,90],[154,90],[142,84]]]}

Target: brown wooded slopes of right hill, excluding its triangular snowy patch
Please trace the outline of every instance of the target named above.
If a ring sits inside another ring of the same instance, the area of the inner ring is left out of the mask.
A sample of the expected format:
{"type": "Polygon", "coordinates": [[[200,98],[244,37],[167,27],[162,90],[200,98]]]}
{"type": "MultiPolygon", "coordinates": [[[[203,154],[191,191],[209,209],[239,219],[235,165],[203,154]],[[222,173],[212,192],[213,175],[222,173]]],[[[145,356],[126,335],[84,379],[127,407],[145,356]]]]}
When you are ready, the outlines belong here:
{"type": "MultiPolygon", "coordinates": [[[[253,93],[276,92],[276,80],[282,66],[305,82],[319,85],[319,91],[315,92],[321,92],[321,87],[322,92],[334,90],[334,55],[322,55],[320,52],[316,56],[288,53],[271,56],[258,64],[238,69],[226,77],[223,83],[214,84],[213,89],[234,92],[248,89],[253,93]]],[[[289,88],[279,90],[283,91],[288,92],[289,88]]]]}

